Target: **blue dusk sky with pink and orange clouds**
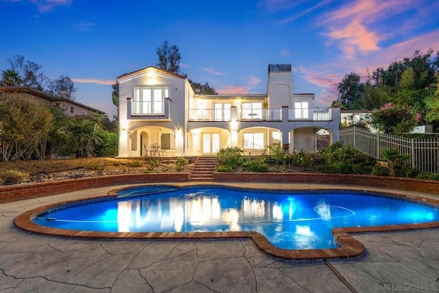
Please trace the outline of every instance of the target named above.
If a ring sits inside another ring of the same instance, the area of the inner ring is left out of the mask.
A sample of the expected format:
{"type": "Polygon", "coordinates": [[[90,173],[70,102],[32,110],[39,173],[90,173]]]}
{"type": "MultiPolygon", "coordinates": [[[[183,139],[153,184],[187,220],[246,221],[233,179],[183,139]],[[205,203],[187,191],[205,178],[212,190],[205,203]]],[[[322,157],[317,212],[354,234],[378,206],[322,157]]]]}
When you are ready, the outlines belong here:
{"type": "Polygon", "coordinates": [[[112,115],[111,84],[158,62],[167,40],[180,73],[223,94],[265,93],[268,64],[292,64],[294,92],[320,105],[354,71],[439,50],[437,0],[0,0],[0,71],[23,55],[76,101],[112,115]]]}

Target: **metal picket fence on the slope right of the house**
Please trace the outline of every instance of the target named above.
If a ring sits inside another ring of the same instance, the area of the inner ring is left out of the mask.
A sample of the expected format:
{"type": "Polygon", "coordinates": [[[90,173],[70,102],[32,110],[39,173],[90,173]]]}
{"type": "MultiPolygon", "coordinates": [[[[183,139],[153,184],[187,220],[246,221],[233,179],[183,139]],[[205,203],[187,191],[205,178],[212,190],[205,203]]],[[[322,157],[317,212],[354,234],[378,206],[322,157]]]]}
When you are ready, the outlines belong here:
{"type": "Polygon", "coordinates": [[[405,138],[350,127],[340,131],[340,141],[377,160],[382,158],[382,149],[396,149],[401,155],[410,156],[413,168],[427,173],[439,173],[439,137],[437,136],[436,138],[405,138]]]}

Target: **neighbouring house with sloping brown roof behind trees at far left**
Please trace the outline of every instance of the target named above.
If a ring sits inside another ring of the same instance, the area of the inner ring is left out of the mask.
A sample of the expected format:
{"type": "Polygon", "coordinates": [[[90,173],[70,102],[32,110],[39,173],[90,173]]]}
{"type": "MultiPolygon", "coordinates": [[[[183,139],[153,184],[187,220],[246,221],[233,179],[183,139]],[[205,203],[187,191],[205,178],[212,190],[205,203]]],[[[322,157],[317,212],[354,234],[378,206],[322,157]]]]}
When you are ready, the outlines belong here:
{"type": "Polygon", "coordinates": [[[93,107],[89,107],[82,103],[71,100],[68,92],[62,92],[61,97],[55,97],[51,94],[47,94],[46,92],[28,88],[27,86],[0,86],[0,98],[3,96],[3,94],[15,94],[17,97],[21,97],[22,99],[29,99],[36,103],[60,107],[62,110],[64,110],[64,113],[67,116],[71,117],[87,116],[91,112],[106,114],[101,110],[97,110],[93,107]]]}

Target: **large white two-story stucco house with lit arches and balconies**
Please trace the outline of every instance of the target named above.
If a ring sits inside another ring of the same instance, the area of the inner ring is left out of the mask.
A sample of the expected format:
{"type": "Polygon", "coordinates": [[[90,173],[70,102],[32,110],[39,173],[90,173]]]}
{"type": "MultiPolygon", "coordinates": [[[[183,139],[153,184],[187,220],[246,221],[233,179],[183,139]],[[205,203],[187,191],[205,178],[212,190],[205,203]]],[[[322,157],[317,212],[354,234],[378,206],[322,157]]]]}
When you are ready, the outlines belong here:
{"type": "Polygon", "coordinates": [[[117,83],[119,157],[215,155],[227,146],[259,155],[276,144],[314,151],[322,129],[339,140],[340,108],[294,94],[291,64],[268,66],[263,94],[195,94],[186,77],[154,66],[117,83]]]}

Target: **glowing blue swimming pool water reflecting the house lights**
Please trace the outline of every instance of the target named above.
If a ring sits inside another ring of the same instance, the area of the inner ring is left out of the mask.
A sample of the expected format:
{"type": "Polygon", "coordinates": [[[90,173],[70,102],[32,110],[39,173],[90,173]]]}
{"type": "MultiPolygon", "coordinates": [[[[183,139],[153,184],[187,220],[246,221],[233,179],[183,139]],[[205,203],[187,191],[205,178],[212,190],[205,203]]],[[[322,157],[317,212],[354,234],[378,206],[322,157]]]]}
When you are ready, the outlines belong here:
{"type": "Polygon", "coordinates": [[[335,227],[439,220],[438,208],[371,192],[152,186],[118,195],[46,212],[34,222],[83,231],[257,231],[282,249],[323,249],[337,246],[335,227]]]}

